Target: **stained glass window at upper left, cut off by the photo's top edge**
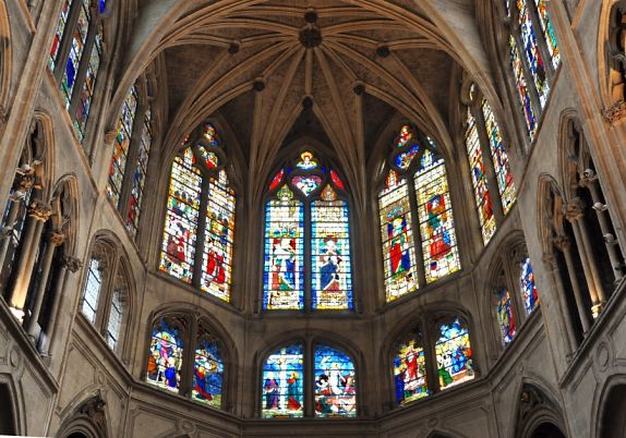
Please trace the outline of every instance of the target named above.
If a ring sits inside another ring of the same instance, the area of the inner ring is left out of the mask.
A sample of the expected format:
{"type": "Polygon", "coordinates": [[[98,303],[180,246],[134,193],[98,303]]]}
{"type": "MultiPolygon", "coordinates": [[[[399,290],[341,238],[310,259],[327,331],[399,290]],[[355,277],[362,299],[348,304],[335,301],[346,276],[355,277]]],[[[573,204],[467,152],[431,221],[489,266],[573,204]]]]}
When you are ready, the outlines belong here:
{"type": "Polygon", "coordinates": [[[104,50],[106,1],[63,0],[48,66],[70,113],[74,134],[85,137],[104,50]]]}

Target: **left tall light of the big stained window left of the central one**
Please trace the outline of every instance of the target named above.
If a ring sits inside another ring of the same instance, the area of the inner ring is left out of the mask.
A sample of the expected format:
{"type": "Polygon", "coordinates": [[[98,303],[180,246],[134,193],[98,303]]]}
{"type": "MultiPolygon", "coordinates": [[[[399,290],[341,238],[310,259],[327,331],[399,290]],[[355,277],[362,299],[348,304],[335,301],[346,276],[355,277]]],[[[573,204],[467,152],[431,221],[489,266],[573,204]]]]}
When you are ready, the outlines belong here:
{"type": "Polygon", "coordinates": [[[191,283],[195,256],[202,175],[191,148],[171,166],[160,269],[191,283]]]}

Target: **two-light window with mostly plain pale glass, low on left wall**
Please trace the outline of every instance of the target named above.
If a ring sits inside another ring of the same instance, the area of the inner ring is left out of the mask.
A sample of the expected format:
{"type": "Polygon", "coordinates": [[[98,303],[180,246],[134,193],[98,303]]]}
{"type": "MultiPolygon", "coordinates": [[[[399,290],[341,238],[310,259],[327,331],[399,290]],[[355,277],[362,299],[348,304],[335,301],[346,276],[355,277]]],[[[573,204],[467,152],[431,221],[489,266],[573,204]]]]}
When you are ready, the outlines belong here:
{"type": "Polygon", "coordinates": [[[128,353],[124,345],[132,315],[131,278],[127,266],[128,259],[119,245],[97,235],[85,266],[80,304],[81,314],[120,356],[128,353]]]}

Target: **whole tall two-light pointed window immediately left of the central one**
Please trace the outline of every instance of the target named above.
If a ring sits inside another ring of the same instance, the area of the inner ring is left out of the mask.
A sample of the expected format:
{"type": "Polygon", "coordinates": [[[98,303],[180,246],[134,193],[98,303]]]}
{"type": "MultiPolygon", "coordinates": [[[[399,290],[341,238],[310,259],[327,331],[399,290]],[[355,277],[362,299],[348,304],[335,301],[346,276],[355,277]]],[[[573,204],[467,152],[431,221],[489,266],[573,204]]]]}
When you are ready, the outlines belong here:
{"type": "Polygon", "coordinates": [[[205,123],[171,166],[159,269],[230,301],[234,192],[216,129],[205,123]]]}

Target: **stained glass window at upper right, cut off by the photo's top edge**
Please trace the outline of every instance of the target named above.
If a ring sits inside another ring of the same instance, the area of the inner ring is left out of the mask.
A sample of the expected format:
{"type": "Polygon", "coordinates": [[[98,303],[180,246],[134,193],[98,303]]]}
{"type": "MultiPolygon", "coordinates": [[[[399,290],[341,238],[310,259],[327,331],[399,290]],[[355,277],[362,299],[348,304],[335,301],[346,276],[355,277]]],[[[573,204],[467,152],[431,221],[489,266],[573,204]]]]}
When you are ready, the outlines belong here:
{"type": "Polygon", "coordinates": [[[515,88],[532,141],[561,63],[561,51],[545,0],[503,3],[515,88]]]}

